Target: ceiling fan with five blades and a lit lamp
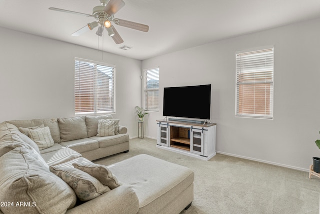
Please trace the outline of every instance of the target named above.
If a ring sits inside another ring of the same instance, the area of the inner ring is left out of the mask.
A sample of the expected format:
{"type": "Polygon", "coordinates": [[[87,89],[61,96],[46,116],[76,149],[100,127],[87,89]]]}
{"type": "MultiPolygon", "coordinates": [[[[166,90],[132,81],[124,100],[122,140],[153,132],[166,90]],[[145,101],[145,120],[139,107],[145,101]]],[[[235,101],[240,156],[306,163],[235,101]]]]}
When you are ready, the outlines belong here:
{"type": "Polygon", "coordinates": [[[125,5],[122,0],[99,0],[99,1],[101,6],[94,7],[92,9],[92,15],[78,13],[74,11],[67,11],[67,10],[58,9],[58,8],[49,8],[49,10],[76,14],[76,15],[81,15],[86,17],[93,17],[97,20],[97,21],[88,23],[83,28],[77,30],[76,32],[71,34],[72,36],[79,36],[88,30],[93,30],[95,27],[98,27],[98,30],[95,34],[101,37],[103,32],[103,27],[104,27],[108,32],[108,35],[115,42],[115,44],[123,43],[122,38],[120,37],[118,32],[115,30],[113,25],[111,25],[111,22],[119,26],[135,29],[138,31],[148,32],[149,26],[147,25],[114,18],[114,14],[118,12],[125,5]]]}

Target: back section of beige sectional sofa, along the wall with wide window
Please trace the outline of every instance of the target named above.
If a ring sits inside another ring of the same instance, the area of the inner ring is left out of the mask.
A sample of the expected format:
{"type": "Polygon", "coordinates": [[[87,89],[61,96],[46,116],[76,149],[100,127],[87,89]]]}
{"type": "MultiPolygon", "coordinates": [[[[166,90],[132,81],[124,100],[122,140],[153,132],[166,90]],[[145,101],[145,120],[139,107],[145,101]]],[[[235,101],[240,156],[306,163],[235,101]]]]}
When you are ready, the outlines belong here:
{"type": "MultiPolygon", "coordinates": [[[[70,148],[88,160],[95,160],[119,152],[129,150],[129,135],[127,128],[118,125],[115,127],[115,134],[110,136],[97,137],[98,121],[112,119],[111,115],[99,116],[79,116],[57,119],[33,119],[33,120],[11,120],[6,121],[22,128],[34,127],[43,124],[49,127],[54,147],[48,150],[41,150],[41,153],[59,149],[61,147],[70,148]]],[[[48,160],[50,154],[44,155],[48,160]]]]}

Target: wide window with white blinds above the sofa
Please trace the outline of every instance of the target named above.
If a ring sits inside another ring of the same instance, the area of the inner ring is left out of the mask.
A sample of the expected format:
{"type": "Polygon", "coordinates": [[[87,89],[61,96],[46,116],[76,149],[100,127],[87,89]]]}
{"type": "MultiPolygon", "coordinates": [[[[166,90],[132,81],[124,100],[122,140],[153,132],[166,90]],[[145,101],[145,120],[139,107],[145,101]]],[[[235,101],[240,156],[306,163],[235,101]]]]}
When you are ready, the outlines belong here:
{"type": "Polygon", "coordinates": [[[75,114],[114,112],[114,72],[114,66],[75,59],[75,114]]]}

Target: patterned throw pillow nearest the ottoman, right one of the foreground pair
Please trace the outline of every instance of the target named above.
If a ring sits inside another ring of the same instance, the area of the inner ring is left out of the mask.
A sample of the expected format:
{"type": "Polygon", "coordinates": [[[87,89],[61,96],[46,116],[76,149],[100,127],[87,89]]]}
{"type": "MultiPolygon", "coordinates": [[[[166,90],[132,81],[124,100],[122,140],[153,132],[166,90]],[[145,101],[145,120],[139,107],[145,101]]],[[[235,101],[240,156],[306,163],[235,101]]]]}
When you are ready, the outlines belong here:
{"type": "Polygon", "coordinates": [[[74,168],[80,169],[95,177],[103,185],[108,186],[110,189],[114,189],[122,183],[112,174],[110,169],[106,166],[95,164],[95,163],[72,163],[74,168]]]}

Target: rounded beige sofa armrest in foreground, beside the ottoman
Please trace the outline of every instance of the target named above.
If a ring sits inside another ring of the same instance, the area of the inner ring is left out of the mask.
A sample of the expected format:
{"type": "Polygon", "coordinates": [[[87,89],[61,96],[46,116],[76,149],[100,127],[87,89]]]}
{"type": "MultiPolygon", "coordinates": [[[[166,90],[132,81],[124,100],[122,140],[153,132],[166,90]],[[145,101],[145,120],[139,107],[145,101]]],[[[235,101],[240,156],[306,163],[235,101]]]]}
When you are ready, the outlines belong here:
{"type": "Polygon", "coordinates": [[[81,205],[67,210],[66,214],[78,213],[136,213],[139,209],[139,200],[134,190],[129,186],[119,186],[100,196],[86,201],[81,205]]]}

